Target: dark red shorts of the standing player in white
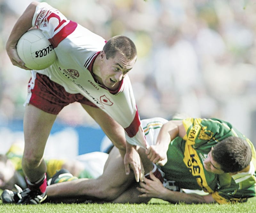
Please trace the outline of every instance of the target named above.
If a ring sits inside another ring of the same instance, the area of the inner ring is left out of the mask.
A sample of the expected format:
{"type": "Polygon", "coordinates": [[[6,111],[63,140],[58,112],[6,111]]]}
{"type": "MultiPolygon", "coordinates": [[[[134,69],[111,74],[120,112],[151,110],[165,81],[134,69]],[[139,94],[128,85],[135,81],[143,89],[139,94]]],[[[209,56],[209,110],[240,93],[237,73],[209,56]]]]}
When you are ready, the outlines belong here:
{"type": "Polygon", "coordinates": [[[63,107],[73,102],[97,107],[82,94],[68,93],[63,86],[53,82],[49,77],[40,73],[36,73],[35,82],[32,82],[32,78],[30,79],[28,82],[28,91],[31,92],[29,104],[51,114],[59,114],[63,107]],[[32,84],[34,84],[33,89],[31,89],[32,84]]]}

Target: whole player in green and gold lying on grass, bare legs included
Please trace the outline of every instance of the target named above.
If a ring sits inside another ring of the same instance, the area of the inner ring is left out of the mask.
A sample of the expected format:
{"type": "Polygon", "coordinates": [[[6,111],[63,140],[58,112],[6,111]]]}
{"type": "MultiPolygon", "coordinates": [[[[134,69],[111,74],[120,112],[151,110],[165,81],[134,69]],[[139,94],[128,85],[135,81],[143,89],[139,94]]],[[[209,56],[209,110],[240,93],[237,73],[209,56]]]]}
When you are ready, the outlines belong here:
{"type": "MultiPolygon", "coordinates": [[[[167,121],[155,118],[143,120],[142,124],[148,143],[155,144],[155,149],[164,148],[168,156],[167,163],[159,166],[164,172],[163,184],[152,173],[149,176],[152,180],[147,175],[143,182],[136,183],[132,174],[125,174],[123,160],[114,147],[98,179],[78,179],[48,186],[49,201],[92,199],[140,203],[155,197],[173,203],[221,204],[245,202],[255,196],[255,148],[230,123],[218,119],[167,121]],[[201,189],[208,194],[186,194],[180,192],[180,188],[201,189]]],[[[152,170],[145,151],[140,148],[138,151],[145,172],[152,170]]],[[[161,179],[159,170],[154,173],[161,179]]],[[[2,199],[12,202],[9,191],[3,194],[2,199]]]]}

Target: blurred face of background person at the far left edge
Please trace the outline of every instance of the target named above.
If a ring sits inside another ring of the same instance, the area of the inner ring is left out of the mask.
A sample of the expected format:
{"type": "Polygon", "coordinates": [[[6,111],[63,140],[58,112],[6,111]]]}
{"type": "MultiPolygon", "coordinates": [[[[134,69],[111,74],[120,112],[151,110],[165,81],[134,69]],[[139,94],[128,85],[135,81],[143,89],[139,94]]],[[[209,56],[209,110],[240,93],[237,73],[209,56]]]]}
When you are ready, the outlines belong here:
{"type": "Polygon", "coordinates": [[[0,162],[0,188],[12,189],[15,169],[9,163],[0,162]]]}

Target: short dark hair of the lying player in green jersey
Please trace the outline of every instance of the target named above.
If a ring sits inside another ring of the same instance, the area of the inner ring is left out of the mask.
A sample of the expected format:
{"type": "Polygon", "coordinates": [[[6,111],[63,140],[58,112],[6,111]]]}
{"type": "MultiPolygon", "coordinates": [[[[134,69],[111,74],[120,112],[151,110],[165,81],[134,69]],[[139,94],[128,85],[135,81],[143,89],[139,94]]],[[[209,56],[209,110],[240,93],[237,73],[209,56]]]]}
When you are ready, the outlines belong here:
{"type": "Polygon", "coordinates": [[[230,136],[212,149],[212,158],[225,173],[239,172],[252,160],[252,149],[243,138],[230,136]]]}

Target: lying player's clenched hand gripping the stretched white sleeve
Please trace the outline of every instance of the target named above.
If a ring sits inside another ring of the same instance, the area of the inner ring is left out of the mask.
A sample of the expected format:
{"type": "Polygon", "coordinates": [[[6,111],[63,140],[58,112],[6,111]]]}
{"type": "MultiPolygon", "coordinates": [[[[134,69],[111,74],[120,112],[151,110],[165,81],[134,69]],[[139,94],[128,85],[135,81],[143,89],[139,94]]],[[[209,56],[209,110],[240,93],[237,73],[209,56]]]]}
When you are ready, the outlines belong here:
{"type": "Polygon", "coordinates": [[[167,150],[162,145],[151,145],[147,150],[146,154],[148,159],[154,164],[165,165],[167,162],[167,150]]]}

